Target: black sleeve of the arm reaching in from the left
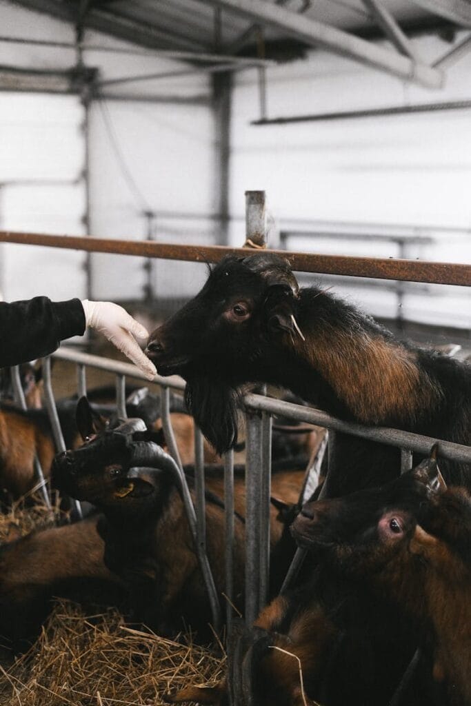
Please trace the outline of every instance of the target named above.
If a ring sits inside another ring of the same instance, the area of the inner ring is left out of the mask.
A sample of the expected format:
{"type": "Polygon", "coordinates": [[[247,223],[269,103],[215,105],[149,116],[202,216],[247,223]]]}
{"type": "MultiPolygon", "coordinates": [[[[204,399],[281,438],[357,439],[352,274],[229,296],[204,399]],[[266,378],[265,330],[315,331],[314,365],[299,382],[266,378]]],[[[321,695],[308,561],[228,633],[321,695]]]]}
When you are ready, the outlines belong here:
{"type": "Polygon", "coordinates": [[[85,332],[80,299],[0,301],[0,368],[42,358],[71,336],[85,332]]]}

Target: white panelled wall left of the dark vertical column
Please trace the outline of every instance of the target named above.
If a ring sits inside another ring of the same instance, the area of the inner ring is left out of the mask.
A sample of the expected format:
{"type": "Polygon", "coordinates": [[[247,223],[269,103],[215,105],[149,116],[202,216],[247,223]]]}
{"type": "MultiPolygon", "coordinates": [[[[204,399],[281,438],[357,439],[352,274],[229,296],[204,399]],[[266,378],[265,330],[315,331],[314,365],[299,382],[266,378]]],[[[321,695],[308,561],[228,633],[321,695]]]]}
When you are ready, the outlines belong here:
{"type": "MultiPolygon", "coordinates": [[[[2,34],[73,42],[73,30],[48,16],[0,0],[2,34]]],[[[85,44],[135,49],[97,32],[85,44]]],[[[138,49],[138,51],[140,51],[138,49]]],[[[189,67],[156,56],[86,51],[87,66],[100,80],[189,67]]],[[[0,64],[25,68],[71,68],[71,49],[2,44],[0,64]]],[[[90,110],[91,233],[117,239],[145,238],[143,210],[207,215],[215,208],[214,135],[210,83],[205,74],[109,85],[109,95],[203,97],[204,104],[105,100],[90,110]]],[[[78,179],[84,165],[84,112],[78,97],[0,92],[0,183],[30,179],[78,179]]],[[[0,188],[0,227],[34,232],[85,234],[83,181],[75,186],[8,185],[0,188]]],[[[160,240],[214,240],[204,218],[156,222],[160,240]]],[[[48,294],[56,299],[85,296],[83,253],[28,246],[0,246],[0,292],[5,299],[48,294]]],[[[142,258],[92,256],[93,297],[140,298],[145,282],[142,258]]],[[[159,296],[191,294],[204,279],[201,265],[156,262],[159,296]]]]}

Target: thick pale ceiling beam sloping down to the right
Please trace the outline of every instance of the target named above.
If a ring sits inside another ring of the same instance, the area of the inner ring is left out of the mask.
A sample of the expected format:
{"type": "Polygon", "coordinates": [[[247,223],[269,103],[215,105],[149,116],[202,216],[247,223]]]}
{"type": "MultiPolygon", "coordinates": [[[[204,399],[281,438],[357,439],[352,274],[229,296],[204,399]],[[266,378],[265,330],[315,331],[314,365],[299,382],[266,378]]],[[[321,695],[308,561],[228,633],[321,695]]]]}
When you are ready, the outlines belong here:
{"type": "Polygon", "coordinates": [[[366,42],[354,35],[325,25],[304,15],[299,16],[278,5],[264,0],[202,0],[217,5],[281,30],[314,47],[321,47],[347,59],[359,61],[393,76],[406,78],[428,88],[439,88],[443,82],[441,71],[412,61],[407,56],[395,54],[390,49],[366,42]]]}

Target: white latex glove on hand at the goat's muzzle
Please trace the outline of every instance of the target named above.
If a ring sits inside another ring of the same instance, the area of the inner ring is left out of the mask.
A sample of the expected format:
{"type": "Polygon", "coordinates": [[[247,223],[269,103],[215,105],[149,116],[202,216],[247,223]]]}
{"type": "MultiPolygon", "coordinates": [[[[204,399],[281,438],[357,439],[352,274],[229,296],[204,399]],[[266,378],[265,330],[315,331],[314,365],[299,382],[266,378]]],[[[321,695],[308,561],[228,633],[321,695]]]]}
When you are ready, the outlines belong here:
{"type": "Polygon", "coordinates": [[[87,327],[100,331],[114,346],[126,355],[133,363],[143,371],[148,380],[152,380],[157,369],[152,361],[145,356],[136,338],[148,338],[149,333],[145,326],[141,325],[129,316],[129,313],[119,304],[111,301],[82,301],[85,312],[85,323],[87,327]]]}

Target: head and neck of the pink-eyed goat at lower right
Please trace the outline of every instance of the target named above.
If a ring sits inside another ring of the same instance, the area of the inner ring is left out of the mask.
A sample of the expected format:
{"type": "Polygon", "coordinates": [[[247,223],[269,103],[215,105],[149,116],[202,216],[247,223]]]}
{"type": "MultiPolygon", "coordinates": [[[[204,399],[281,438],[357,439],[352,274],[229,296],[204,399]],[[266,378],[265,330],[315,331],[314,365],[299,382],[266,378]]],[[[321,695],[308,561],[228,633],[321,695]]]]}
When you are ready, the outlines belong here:
{"type": "Polygon", "coordinates": [[[383,503],[368,490],[308,503],[293,532],[299,544],[321,547],[342,577],[397,604],[417,626],[448,702],[470,705],[471,495],[443,479],[425,484],[428,498],[415,507],[398,484],[381,492],[383,503]]]}

